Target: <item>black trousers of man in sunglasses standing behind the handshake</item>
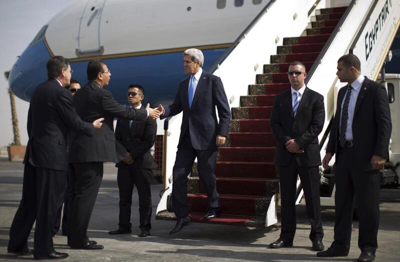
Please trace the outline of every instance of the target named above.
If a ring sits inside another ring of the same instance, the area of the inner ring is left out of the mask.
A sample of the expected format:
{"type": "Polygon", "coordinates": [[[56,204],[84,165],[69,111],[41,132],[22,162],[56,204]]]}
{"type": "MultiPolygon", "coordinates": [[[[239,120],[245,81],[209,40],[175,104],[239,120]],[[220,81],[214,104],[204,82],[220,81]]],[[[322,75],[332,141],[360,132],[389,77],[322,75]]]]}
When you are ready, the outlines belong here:
{"type": "Polygon", "coordinates": [[[136,185],[139,196],[139,228],[151,229],[151,169],[135,168],[132,164],[118,168],[117,182],[119,188],[119,227],[131,228],[130,206],[132,205],[133,186],[136,185]]]}

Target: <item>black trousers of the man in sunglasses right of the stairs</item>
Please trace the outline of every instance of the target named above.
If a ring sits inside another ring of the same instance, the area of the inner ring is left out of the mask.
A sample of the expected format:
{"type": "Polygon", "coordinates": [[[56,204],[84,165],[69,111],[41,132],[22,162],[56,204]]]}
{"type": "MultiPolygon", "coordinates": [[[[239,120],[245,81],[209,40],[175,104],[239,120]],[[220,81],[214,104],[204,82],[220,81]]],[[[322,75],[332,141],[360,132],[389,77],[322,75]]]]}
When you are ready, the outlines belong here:
{"type": "Polygon", "coordinates": [[[296,181],[300,176],[301,186],[305,196],[305,208],[311,224],[309,239],[323,238],[321,207],[319,200],[319,170],[318,166],[298,166],[294,156],[287,166],[279,166],[280,183],[280,238],[293,241],[296,232],[296,181]]]}

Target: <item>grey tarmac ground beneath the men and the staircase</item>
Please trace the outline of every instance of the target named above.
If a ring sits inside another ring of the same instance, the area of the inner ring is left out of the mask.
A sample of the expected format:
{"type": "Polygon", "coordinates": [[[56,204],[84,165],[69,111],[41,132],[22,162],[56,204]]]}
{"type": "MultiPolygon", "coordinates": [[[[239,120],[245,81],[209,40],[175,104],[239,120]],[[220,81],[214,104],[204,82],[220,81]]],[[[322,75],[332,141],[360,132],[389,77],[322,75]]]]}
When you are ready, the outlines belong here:
{"type": "MultiPolygon", "coordinates": [[[[0,158],[0,261],[33,260],[32,256],[7,253],[8,231],[18,207],[22,190],[23,164],[0,158]]],[[[162,184],[151,185],[153,217],[162,184]]],[[[118,227],[118,187],[116,168],[104,164],[104,177],[91,216],[87,235],[104,245],[103,250],[74,250],[66,245],[66,237],[59,231],[53,238],[57,251],[67,252],[63,261],[355,261],[360,251],[357,247],[358,222],[353,223],[351,248],[347,257],[319,258],[311,250],[308,239],[309,223],[305,206],[297,206],[297,231],[294,246],[270,249],[268,244],[279,237],[280,223],[267,228],[249,228],[229,225],[192,223],[170,236],[173,221],[152,219],[151,236],[138,237],[138,198],[133,191],[132,233],[109,235],[118,227]]],[[[400,187],[390,186],[381,190],[379,247],[375,261],[400,260],[400,187]]],[[[279,213],[278,213],[279,219],[279,213]]],[[[322,211],[324,226],[323,243],[327,248],[333,240],[333,209],[322,211]]],[[[33,247],[33,231],[28,246],[33,247]]]]}

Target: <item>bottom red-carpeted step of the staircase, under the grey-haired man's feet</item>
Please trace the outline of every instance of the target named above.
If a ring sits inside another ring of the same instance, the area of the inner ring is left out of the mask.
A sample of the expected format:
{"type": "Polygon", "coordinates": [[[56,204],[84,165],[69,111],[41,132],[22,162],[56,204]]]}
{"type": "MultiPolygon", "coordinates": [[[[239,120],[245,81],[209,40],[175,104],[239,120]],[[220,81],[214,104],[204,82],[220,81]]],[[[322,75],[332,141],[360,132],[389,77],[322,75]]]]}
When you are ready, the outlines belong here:
{"type": "MultiPolygon", "coordinates": [[[[247,227],[265,227],[265,217],[262,216],[241,216],[221,215],[211,220],[204,219],[205,213],[190,213],[193,222],[210,224],[241,225],[247,227]]],[[[156,220],[176,220],[175,214],[171,212],[159,212],[155,215],[156,220]]]]}

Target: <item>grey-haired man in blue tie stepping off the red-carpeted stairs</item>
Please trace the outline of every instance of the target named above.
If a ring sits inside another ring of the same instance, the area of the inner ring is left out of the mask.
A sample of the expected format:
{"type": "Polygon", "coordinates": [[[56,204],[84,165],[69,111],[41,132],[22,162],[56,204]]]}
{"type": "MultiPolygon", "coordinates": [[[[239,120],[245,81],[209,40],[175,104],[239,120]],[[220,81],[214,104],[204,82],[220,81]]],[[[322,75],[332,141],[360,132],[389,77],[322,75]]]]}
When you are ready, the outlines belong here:
{"type": "Polygon", "coordinates": [[[170,234],[191,223],[188,215],[191,206],[186,201],[186,183],[196,157],[198,176],[208,196],[208,213],[204,219],[212,219],[220,214],[219,194],[213,171],[217,146],[224,144],[228,135],[230,108],[221,79],[203,71],[203,61],[204,56],[198,49],[191,48],[183,52],[184,71],[190,77],[179,83],[173,103],[163,108],[162,117],[183,111],[178,150],[172,170],[172,208],[177,221],[170,234]],[[218,109],[219,123],[215,106],[218,109]]]}

